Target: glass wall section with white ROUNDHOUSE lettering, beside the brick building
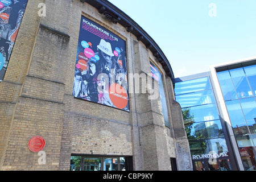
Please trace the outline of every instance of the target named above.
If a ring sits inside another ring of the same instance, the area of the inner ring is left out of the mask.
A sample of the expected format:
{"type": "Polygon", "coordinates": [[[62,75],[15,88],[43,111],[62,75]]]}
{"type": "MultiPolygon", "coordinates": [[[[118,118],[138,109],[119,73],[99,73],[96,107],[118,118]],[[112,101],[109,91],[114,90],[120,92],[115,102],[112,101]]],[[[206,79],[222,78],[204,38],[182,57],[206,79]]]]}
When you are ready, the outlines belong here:
{"type": "Polygon", "coordinates": [[[183,112],[194,169],[230,170],[229,151],[209,77],[176,82],[175,97],[183,112]],[[220,160],[218,164],[208,163],[212,154],[220,160]],[[226,165],[221,167],[221,162],[226,165]]]}

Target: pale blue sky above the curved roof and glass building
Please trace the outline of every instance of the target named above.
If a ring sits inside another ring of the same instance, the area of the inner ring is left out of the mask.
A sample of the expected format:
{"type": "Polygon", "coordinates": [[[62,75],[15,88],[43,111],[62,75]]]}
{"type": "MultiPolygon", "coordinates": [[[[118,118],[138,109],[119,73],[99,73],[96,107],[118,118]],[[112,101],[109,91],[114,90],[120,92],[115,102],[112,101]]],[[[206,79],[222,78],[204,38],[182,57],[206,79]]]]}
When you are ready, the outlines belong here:
{"type": "Polygon", "coordinates": [[[175,77],[256,56],[256,0],[109,1],[155,40],[175,77]]]}

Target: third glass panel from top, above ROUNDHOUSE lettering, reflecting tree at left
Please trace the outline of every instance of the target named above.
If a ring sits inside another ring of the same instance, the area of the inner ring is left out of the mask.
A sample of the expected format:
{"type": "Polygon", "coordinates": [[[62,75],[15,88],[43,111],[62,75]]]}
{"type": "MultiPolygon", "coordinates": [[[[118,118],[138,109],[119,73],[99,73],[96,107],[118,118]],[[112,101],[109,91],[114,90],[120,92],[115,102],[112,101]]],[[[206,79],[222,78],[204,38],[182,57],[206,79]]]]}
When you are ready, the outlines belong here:
{"type": "Polygon", "coordinates": [[[220,119],[216,104],[187,107],[183,108],[182,111],[185,124],[220,119]],[[189,113],[189,117],[186,117],[184,113],[189,113]]]}

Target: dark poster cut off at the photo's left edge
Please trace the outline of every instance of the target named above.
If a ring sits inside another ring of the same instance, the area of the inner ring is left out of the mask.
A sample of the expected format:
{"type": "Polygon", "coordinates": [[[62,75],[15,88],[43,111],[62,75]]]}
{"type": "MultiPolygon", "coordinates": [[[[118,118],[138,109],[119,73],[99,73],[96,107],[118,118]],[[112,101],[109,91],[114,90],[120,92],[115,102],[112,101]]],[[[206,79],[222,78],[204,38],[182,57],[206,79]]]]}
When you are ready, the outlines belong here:
{"type": "Polygon", "coordinates": [[[0,0],[0,82],[18,34],[28,0],[0,0]]]}

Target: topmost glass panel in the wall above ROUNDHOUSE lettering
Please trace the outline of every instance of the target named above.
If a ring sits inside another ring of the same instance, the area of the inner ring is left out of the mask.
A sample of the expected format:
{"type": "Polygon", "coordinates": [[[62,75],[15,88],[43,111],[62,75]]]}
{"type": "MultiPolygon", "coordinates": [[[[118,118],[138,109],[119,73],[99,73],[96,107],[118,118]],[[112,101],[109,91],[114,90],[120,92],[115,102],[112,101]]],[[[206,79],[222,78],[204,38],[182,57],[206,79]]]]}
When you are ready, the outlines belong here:
{"type": "Polygon", "coordinates": [[[179,95],[208,89],[211,89],[209,78],[203,77],[194,80],[176,82],[174,92],[176,95],[179,95]]]}

